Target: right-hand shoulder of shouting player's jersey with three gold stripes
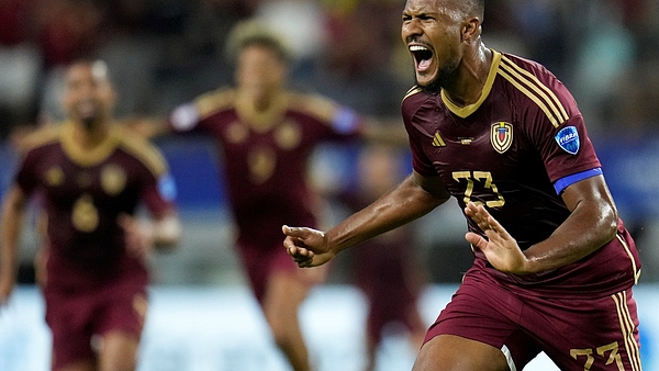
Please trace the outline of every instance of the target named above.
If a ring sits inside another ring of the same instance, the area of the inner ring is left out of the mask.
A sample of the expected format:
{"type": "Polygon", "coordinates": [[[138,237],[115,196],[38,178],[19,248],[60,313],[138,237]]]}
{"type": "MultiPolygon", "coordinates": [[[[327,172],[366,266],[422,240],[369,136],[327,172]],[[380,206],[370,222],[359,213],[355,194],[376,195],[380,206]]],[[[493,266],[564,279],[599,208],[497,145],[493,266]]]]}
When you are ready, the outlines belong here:
{"type": "Polygon", "coordinates": [[[574,98],[545,66],[512,54],[501,54],[498,75],[518,97],[521,106],[540,111],[554,126],[578,115],[574,98]]]}

